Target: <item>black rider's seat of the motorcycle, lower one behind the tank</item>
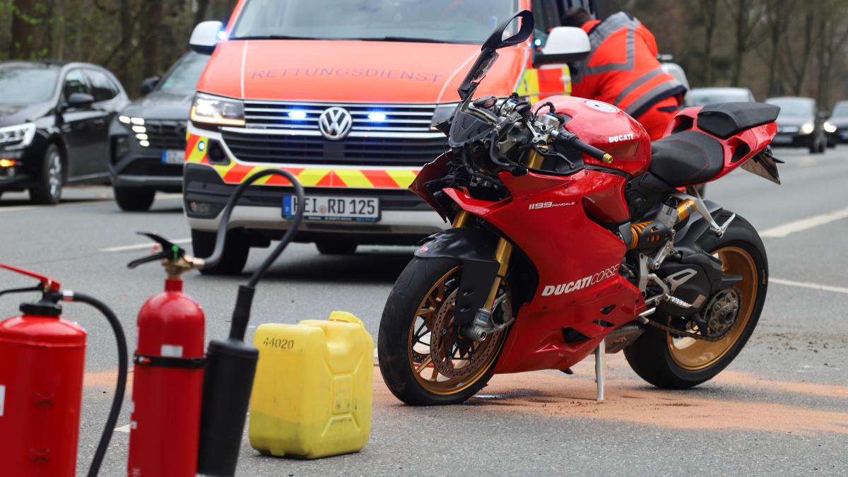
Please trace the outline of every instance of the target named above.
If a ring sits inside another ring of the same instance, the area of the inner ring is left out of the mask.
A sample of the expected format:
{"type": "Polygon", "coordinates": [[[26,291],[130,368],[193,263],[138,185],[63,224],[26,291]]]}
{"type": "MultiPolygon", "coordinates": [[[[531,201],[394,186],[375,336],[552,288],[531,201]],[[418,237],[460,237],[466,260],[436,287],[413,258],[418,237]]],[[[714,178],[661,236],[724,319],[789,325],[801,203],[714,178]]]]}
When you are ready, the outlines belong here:
{"type": "Polygon", "coordinates": [[[650,143],[649,171],[675,188],[709,181],[722,166],[722,144],[703,132],[678,132],[650,143]]]}

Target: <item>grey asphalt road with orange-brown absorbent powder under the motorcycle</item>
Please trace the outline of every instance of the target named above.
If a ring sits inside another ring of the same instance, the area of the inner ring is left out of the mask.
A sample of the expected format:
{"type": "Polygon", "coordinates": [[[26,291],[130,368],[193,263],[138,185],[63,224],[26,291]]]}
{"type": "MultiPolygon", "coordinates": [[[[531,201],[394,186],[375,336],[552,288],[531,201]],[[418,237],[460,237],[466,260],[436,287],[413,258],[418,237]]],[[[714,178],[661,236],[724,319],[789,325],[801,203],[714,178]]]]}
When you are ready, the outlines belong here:
{"type": "MultiPolygon", "coordinates": [[[[388,394],[375,368],[373,429],[364,451],[287,460],[261,457],[245,440],[238,474],[845,474],[848,148],[824,155],[778,149],[777,155],[787,162],[780,167],[782,186],[738,171],[707,188],[710,199],[764,233],[772,277],[755,334],[717,379],[695,390],[656,390],[617,354],[610,356],[611,381],[600,404],[589,358],[574,376],[496,376],[467,405],[411,408],[388,394]]],[[[76,188],[57,207],[36,207],[25,194],[4,194],[0,261],[107,301],[133,344],[136,313],[159,292],[163,276],[153,265],[127,270],[128,261],[148,252],[134,233],[187,239],[189,230],[177,196],[159,198],[149,213],[120,212],[110,197],[108,188],[76,188]]],[[[248,272],[266,253],[252,252],[248,272]]],[[[260,284],[254,325],[346,310],[376,336],[383,303],[409,259],[404,248],[365,247],[338,258],[293,245],[260,284]]],[[[207,339],[226,335],[237,284],[246,276],[188,278],[188,293],[207,314],[207,339]]],[[[0,273],[0,289],[29,283],[0,273]]],[[[17,300],[3,297],[0,315],[14,314],[17,300]]],[[[108,411],[116,358],[102,318],[84,306],[65,310],[89,332],[83,474],[108,411]]],[[[120,425],[127,423],[125,406],[120,425]]],[[[126,473],[127,446],[128,434],[115,433],[101,474],[126,473]]]]}

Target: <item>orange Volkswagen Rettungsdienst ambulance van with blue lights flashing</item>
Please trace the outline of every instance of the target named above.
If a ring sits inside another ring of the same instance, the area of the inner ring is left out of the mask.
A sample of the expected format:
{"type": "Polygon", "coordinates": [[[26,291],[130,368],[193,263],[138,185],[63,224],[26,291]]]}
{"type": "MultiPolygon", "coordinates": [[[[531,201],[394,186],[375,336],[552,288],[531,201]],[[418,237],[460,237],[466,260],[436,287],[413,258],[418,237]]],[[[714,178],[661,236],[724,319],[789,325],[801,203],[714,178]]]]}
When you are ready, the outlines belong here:
{"type": "Polygon", "coordinates": [[[270,167],[298,177],[304,204],[277,177],[248,188],[211,272],[241,272],[250,247],[279,239],[297,207],[307,220],[296,240],[327,254],[415,244],[442,229],[407,190],[447,149],[433,116],[455,108],[480,45],[522,8],[535,16],[532,41],[499,50],[477,95],[569,93],[567,66],[544,47],[575,3],[594,9],[590,0],[241,0],[226,26],[198,25],[192,48],[212,56],[187,129],[183,193],[195,254],[210,255],[233,188],[270,167]]]}

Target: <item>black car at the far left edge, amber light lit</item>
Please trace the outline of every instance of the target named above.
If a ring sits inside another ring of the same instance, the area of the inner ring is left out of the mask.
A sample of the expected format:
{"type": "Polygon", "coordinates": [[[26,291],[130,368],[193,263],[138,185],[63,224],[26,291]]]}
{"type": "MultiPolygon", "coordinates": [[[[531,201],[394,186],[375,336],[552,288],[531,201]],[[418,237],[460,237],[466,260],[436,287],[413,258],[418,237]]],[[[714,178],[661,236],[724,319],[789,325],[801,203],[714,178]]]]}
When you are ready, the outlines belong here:
{"type": "Polygon", "coordinates": [[[109,123],[129,99],[87,63],[0,63],[0,194],[56,204],[62,186],[109,182],[109,123]]]}

